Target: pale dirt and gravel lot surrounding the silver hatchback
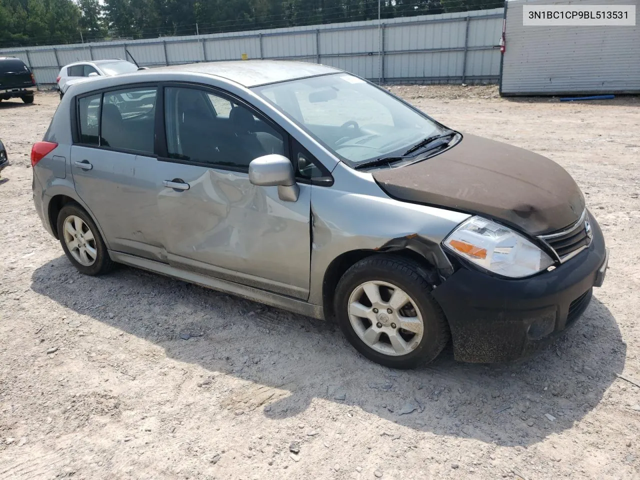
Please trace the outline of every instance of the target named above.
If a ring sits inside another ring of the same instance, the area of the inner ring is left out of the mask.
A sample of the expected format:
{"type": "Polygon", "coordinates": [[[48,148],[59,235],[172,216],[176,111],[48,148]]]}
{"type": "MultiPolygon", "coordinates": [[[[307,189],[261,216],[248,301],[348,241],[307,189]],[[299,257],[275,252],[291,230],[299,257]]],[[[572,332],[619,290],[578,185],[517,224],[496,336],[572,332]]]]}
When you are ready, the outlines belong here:
{"type": "Polygon", "coordinates": [[[81,276],[31,200],[58,97],[2,102],[0,478],[640,479],[640,388],[619,378],[640,383],[640,99],[392,90],[577,180],[611,261],[573,330],[516,364],[390,371],[330,324],[131,268],[81,276]]]}

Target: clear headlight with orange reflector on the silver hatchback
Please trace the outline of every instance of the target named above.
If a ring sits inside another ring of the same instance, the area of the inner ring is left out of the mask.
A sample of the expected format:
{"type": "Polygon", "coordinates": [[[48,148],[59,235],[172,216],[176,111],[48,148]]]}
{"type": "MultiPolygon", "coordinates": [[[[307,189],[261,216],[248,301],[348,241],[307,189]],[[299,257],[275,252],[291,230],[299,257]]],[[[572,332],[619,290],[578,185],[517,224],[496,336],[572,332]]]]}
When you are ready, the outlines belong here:
{"type": "Polygon", "coordinates": [[[554,264],[524,236],[482,217],[458,225],[443,244],[477,266],[512,278],[533,275],[554,264]]]}

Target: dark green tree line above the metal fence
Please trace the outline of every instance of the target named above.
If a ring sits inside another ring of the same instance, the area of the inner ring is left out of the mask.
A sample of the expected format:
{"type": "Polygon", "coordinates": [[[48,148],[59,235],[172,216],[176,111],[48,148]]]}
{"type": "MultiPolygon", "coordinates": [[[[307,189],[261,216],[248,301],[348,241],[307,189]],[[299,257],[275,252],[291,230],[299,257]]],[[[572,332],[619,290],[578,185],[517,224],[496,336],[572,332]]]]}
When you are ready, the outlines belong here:
{"type": "MultiPolygon", "coordinates": [[[[504,0],[381,0],[383,19],[504,0]]],[[[154,38],[378,18],[378,0],[0,0],[0,47],[154,38]]]]}

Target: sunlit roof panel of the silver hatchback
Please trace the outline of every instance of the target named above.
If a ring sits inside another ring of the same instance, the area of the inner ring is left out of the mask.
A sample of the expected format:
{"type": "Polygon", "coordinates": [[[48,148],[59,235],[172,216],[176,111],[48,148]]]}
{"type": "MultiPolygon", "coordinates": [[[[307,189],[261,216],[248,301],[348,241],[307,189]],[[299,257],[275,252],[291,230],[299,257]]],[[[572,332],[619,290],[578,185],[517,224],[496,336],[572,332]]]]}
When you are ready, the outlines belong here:
{"type": "Polygon", "coordinates": [[[286,60],[235,60],[152,68],[147,72],[196,72],[226,78],[246,87],[340,72],[337,68],[286,60]]]}

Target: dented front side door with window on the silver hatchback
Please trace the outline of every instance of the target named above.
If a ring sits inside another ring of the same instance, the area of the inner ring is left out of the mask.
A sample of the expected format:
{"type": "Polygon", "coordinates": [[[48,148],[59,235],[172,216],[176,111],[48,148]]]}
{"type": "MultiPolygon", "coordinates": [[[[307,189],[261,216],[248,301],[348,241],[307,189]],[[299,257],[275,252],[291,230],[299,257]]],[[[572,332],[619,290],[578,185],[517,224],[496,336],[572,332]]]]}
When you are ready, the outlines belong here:
{"type": "Polygon", "coordinates": [[[170,264],[307,299],[311,186],[285,202],[248,179],[252,159],[287,154],[286,134],[224,93],[167,87],[164,111],[158,207],[170,264]]]}

